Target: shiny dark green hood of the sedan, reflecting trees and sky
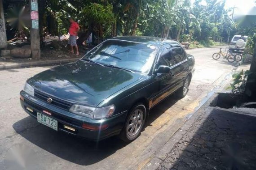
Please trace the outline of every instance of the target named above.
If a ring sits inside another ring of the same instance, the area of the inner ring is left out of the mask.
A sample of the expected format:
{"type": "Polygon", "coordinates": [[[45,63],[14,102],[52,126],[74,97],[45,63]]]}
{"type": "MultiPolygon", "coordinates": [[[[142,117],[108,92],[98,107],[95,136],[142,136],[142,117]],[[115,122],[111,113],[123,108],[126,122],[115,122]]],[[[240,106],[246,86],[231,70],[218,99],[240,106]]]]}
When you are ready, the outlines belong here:
{"type": "Polygon", "coordinates": [[[41,72],[28,83],[53,97],[97,106],[141,77],[138,73],[79,60],[41,72]]]}

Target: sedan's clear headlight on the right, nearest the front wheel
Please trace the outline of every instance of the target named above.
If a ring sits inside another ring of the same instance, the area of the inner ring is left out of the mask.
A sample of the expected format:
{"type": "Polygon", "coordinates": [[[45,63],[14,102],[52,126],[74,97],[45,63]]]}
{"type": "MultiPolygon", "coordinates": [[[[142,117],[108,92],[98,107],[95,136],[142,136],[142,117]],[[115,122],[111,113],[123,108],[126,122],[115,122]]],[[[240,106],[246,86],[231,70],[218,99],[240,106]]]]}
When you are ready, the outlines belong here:
{"type": "Polygon", "coordinates": [[[106,107],[90,107],[75,104],[71,106],[69,111],[81,116],[87,116],[94,119],[102,119],[110,117],[115,111],[115,106],[110,105],[106,107]]]}

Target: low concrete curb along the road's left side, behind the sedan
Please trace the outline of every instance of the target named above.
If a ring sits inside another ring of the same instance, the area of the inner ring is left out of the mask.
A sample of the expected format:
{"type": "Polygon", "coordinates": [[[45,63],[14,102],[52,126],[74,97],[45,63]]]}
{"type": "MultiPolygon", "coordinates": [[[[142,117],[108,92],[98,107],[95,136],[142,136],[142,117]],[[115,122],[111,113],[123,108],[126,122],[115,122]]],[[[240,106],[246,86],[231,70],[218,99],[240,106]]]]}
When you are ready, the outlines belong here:
{"type": "Polygon", "coordinates": [[[18,68],[26,68],[26,67],[39,67],[39,66],[50,66],[50,65],[59,65],[66,64],[73,61],[77,61],[79,58],[72,59],[55,59],[55,60],[44,60],[44,61],[31,61],[26,63],[15,63],[12,65],[0,65],[0,70],[9,70],[9,69],[18,69],[18,68]]]}

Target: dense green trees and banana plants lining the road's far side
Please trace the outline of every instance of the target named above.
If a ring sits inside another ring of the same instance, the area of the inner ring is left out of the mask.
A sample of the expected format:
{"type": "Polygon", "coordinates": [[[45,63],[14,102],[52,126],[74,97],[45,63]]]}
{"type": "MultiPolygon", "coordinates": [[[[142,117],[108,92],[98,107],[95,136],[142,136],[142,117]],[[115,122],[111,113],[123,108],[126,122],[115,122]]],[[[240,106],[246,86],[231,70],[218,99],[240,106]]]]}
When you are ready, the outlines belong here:
{"type": "MultiPolygon", "coordinates": [[[[253,36],[230,16],[225,0],[40,0],[41,40],[67,34],[68,17],[79,22],[78,43],[94,32],[100,42],[120,35],[145,35],[188,42],[191,48],[223,45],[234,34],[253,36]]],[[[29,39],[28,0],[4,1],[8,39],[29,39]]],[[[253,38],[250,39],[252,41],[253,38]]],[[[42,41],[43,42],[43,41],[42,41]]],[[[249,43],[248,51],[252,51],[249,43]]]]}

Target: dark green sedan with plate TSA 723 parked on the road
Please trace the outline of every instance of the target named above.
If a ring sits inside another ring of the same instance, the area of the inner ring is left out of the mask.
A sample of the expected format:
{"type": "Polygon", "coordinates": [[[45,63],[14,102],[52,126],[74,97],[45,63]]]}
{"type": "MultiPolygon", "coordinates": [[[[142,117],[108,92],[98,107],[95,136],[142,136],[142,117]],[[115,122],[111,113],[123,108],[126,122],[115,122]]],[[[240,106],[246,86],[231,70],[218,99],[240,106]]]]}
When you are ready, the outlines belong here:
{"type": "Polygon", "coordinates": [[[135,140],[150,109],[188,92],[194,57],[175,41],[123,36],[104,41],[76,62],[26,81],[21,106],[56,131],[102,140],[135,140]]]}

